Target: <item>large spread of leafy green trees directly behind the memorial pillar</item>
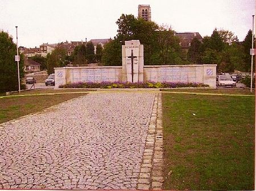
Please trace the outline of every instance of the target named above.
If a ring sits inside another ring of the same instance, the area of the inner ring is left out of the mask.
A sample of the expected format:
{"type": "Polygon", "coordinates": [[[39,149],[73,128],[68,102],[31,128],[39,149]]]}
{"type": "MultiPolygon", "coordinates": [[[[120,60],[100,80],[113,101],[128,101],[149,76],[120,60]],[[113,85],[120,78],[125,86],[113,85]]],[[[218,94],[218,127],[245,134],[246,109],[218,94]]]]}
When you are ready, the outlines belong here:
{"type": "Polygon", "coordinates": [[[122,64],[122,45],[126,40],[139,40],[144,46],[144,65],[183,64],[184,55],[179,38],[168,26],[137,19],[134,15],[122,14],[117,20],[118,33],[104,47],[104,65],[122,64]],[[175,63],[179,61],[179,63],[175,63]]]}

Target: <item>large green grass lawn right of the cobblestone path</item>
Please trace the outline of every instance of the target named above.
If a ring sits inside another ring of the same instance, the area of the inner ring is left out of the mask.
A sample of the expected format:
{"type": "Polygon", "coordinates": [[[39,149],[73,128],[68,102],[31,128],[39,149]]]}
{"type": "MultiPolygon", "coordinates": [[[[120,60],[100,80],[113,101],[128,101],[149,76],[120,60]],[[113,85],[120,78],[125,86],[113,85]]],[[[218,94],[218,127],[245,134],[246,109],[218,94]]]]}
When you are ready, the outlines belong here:
{"type": "Polygon", "coordinates": [[[254,97],[162,95],[164,189],[254,190],[254,97]]]}

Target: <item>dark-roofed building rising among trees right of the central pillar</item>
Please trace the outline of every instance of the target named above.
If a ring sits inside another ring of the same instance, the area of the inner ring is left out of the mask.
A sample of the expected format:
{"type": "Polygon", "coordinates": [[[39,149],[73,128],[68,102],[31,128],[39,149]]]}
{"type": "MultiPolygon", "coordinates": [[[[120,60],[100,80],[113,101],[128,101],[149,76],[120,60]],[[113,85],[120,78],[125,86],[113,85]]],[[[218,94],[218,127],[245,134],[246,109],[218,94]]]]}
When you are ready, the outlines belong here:
{"type": "Polygon", "coordinates": [[[176,32],[175,36],[178,36],[180,38],[180,46],[186,52],[188,52],[193,38],[197,38],[199,41],[203,41],[203,38],[199,34],[199,32],[176,32]]]}

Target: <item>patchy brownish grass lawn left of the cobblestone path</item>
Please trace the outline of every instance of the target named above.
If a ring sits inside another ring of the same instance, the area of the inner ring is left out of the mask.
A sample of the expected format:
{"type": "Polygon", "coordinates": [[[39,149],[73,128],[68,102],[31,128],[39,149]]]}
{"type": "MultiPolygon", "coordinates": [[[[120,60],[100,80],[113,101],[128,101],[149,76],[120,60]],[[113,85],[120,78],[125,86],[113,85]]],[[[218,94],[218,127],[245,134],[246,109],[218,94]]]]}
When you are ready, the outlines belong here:
{"type": "MultiPolygon", "coordinates": [[[[73,92],[79,92],[73,90],[73,92]]],[[[70,92],[70,91],[64,91],[70,92]]],[[[20,93],[25,94],[39,94],[39,93],[60,93],[56,90],[42,90],[42,92],[31,90],[20,93]]],[[[0,98],[0,123],[10,121],[22,117],[23,115],[36,113],[46,109],[47,107],[57,105],[69,99],[77,98],[86,93],[72,93],[72,94],[55,94],[55,95],[36,95],[23,97],[3,97],[0,98]]]]}

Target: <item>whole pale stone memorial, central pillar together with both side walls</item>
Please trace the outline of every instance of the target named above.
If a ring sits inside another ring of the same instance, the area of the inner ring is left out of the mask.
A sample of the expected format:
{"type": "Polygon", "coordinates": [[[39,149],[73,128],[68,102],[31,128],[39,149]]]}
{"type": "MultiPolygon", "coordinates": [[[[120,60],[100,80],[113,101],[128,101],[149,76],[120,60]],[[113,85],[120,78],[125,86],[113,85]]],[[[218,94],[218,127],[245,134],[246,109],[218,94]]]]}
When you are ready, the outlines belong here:
{"type": "MultiPolygon", "coordinates": [[[[122,45],[122,66],[55,68],[55,88],[75,82],[203,83],[216,88],[216,64],[145,65],[139,40],[122,45]]],[[[117,64],[116,64],[117,65],[117,64]]]]}

